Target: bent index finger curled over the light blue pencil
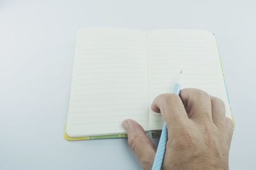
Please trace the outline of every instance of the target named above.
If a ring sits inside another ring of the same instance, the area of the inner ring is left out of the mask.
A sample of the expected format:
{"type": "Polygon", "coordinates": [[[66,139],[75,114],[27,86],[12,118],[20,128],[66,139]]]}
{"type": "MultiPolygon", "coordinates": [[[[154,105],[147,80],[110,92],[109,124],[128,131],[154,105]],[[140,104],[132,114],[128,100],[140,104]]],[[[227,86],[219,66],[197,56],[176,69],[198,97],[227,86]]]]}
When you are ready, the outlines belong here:
{"type": "Polygon", "coordinates": [[[152,111],[161,112],[167,128],[175,127],[177,124],[184,124],[188,115],[179,96],[176,94],[161,94],[154,99],[151,105],[152,111]]]}

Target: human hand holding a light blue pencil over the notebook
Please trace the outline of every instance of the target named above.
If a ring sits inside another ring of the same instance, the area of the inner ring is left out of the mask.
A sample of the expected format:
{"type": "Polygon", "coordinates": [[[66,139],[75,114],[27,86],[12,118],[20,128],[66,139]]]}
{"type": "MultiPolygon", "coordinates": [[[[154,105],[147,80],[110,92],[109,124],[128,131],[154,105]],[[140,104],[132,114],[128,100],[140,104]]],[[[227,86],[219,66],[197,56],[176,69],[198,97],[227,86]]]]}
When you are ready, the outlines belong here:
{"type": "MultiPolygon", "coordinates": [[[[198,89],[183,89],[180,97],[162,94],[151,109],[163,115],[168,141],[163,169],[228,169],[233,124],[225,104],[198,89]]],[[[143,169],[151,169],[156,148],[140,124],[125,120],[128,144],[143,169]]]]}

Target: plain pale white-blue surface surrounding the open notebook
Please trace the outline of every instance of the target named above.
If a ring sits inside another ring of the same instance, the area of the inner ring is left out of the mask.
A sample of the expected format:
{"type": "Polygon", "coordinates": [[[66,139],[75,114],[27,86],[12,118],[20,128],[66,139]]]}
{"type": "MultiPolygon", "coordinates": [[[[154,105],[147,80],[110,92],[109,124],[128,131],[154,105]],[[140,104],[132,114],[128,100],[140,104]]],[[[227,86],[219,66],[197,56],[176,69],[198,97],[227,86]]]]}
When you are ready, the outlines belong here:
{"type": "Polygon", "coordinates": [[[230,169],[255,169],[255,6],[0,0],[0,169],[141,168],[126,139],[63,139],[76,32],[88,26],[214,32],[236,118],[230,169]]]}

